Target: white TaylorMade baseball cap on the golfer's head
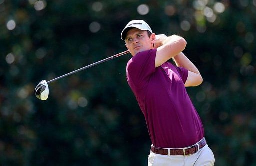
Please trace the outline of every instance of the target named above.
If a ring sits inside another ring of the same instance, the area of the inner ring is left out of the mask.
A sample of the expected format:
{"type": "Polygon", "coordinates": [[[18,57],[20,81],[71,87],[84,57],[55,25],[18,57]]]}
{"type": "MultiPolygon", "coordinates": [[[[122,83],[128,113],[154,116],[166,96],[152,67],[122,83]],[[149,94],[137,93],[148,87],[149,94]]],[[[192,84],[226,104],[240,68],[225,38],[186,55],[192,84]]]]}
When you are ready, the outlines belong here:
{"type": "Polygon", "coordinates": [[[121,33],[121,39],[122,40],[125,40],[127,32],[132,28],[138,28],[140,30],[149,30],[151,33],[153,33],[150,26],[144,20],[140,20],[140,19],[139,20],[132,20],[122,30],[122,33],[121,33]]]}

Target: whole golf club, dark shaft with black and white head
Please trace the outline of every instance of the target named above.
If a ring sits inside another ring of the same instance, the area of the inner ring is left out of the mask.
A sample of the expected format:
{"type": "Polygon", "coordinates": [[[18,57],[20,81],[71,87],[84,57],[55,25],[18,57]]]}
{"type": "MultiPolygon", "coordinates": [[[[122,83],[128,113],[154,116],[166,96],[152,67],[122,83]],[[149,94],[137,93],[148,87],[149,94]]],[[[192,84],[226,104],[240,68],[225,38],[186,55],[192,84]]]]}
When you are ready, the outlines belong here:
{"type": "Polygon", "coordinates": [[[108,61],[108,60],[110,60],[110,59],[116,58],[116,57],[118,57],[118,56],[121,56],[121,55],[124,55],[124,54],[127,54],[127,53],[129,53],[129,50],[126,50],[126,51],[124,51],[124,52],[121,52],[121,53],[118,53],[118,54],[116,54],[116,55],[110,56],[110,57],[108,57],[108,58],[102,59],[102,60],[100,60],[100,61],[98,61],[98,62],[95,62],[95,63],[92,63],[92,64],[90,64],[90,65],[84,66],[84,67],[82,67],[82,68],[80,68],[80,69],[74,70],[74,71],[72,71],[72,72],[70,72],[70,73],[64,74],[64,75],[59,76],[59,77],[57,77],[57,78],[54,78],[54,79],[52,79],[52,80],[49,80],[49,81],[42,80],[42,81],[35,87],[35,89],[34,89],[35,96],[36,96],[38,99],[47,100],[47,98],[48,98],[48,96],[49,96],[49,87],[48,87],[48,83],[53,82],[53,81],[56,81],[56,80],[58,80],[58,79],[60,79],[60,78],[63,78],[63,77],[66,77],[66,76],[68,76],[68,75],[77,73],[77,72],[79,72],[79,71],[81,71],[81,70],[87,69],[87,68],[89,68],[89,67],[95,66],[95,65],[100,64],[100,63],[103,63],[103,62],[106,62],[106,61],[108,61]]]}

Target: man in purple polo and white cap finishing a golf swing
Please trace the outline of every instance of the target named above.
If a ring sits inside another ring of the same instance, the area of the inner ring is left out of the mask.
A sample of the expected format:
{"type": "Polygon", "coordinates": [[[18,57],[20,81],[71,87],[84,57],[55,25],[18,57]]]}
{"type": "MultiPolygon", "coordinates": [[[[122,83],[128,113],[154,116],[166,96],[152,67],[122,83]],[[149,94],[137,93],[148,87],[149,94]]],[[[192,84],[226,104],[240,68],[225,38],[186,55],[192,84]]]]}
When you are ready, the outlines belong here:
{"type": "Polygon", "coordinates": [[[127,81],[144,114],[152,141],[148,166],[213,166],[214,155],[185,87],[202,77],[182,53],[180,36],[155,35],[143,20],[132,20],[121,39],[133,56],[127,81]],[[173,59],[176,65],[167,62],[173,59]]]}

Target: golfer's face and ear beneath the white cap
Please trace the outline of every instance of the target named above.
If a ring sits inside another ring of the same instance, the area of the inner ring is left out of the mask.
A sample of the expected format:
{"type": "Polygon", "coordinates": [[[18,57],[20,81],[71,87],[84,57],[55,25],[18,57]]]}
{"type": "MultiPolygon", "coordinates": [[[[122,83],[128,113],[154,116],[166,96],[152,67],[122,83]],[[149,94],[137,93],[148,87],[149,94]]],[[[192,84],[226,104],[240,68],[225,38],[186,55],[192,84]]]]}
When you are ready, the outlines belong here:
{"type": "Polygon", "coordinates": [[[131,55],[134,56],[141,51],[153,49],[154,39],[154,33],[148,37],[147,31],[133,28],[126,34],[125,45],[131,55]]]}

